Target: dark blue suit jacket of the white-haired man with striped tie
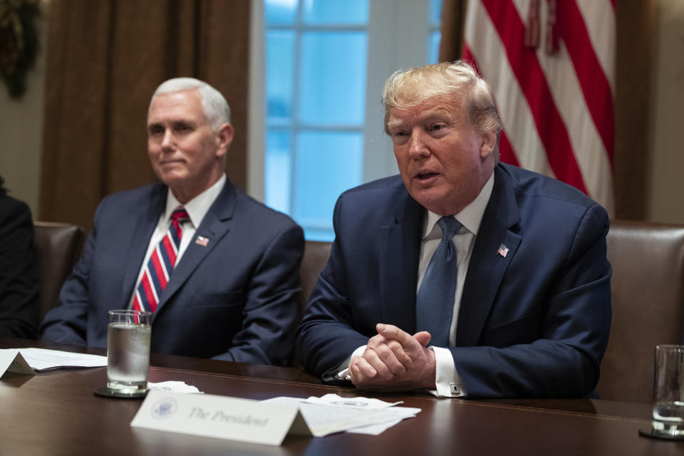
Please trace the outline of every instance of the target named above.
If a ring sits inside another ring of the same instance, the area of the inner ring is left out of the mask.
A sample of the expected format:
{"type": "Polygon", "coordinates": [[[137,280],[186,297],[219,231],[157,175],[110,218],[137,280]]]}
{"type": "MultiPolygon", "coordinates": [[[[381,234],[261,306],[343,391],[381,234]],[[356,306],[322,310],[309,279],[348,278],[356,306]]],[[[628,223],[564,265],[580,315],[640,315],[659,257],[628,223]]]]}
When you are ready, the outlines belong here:
{"type": "MultiPolygon", "coordinates": [[[[108,311],[125,309],[167,187],[105,197],[81,261],[45,317],[43,340],[107,343],[108,311]]],[[[152,318],[152,352],[289,363],[304,235],[289,217],[226,182],[172,271],[152,318]]]]}

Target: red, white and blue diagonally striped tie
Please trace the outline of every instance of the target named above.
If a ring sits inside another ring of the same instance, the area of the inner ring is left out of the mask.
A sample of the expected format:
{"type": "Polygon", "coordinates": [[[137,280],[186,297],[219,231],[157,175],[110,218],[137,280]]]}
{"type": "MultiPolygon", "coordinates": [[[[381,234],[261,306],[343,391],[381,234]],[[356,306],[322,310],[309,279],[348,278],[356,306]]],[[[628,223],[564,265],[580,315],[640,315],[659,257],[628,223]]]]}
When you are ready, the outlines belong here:
{"type": "Polygon", "coordinates": [[[176,264],[180,239],[183,235],[181,223],[189,218],[182,206],[177,207],[171,214],[169,229],[152,251],[150,260],[145,265],[145,271],[142,272],[142,279],[133,298],[133,310],[152,312],[157,310],[162,291],[169,283],[171,271],[176,264]]]}

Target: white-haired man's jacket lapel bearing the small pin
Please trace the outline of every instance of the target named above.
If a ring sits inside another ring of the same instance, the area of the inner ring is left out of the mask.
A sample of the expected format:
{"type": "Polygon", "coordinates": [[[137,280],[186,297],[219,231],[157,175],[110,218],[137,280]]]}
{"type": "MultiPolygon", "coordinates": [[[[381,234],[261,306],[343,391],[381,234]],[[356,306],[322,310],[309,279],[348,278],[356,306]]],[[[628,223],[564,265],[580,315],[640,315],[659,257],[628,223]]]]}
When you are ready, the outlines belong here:
{"type": "Polygon", "coordinates": [[[190,240],[190,244],[188,244],[183,256],[174,267],[169,284],[162,292],[155,316],[159,314],[164,304],[185,284],[185,281],[197,269],[197,266],[202,263],[209,252],[212,252],[214,247],[219,244],[224,235],[229,231],[229,221],[232,218],[235,197],[235,187],[226,180],[223,190],[221,190],[221,193],[219,193],[207,214],[204,215],[202,223],[199,224],[195,237],[190,240]],[[195,241],[200,236],[208,239],[209,242],[206,245],[197,244],[195,241]]]}

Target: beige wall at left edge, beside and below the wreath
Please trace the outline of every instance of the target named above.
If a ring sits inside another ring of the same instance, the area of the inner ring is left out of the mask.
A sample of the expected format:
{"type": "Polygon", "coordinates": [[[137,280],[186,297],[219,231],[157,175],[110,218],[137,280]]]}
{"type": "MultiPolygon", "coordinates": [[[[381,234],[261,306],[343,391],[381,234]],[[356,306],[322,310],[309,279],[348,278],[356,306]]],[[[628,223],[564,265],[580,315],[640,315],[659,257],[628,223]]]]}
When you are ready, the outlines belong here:
{"type": "Polygon", "coordinates": [[[45,87],[45,39],[47,6],[41,0],[42,16],[36,21],[40,35],[36,66],[28,73],[27,90],[19,100],[9,97],[0,84],[0,175],[9,195],[21,199],[38,218],[38,191],[43,147],[43,89],[45,87]]]}

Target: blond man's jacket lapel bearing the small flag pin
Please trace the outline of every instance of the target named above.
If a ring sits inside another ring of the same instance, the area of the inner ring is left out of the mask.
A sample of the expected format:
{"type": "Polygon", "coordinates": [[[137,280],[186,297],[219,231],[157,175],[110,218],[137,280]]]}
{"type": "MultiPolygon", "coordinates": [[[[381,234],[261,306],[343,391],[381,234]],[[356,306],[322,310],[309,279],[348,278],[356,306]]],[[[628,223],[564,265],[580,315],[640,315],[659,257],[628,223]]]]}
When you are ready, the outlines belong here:
{"type": "Polygon", "coordinates": [[[497,166],[494,189],[484,209],[465,278],[456,346],[477,345],[504,273],[522,239],[517,233],[519,221],[512,182],[507,172],[497,166]],[[501,244],[509,249],[505,257],[497,253],[501,244]]]}

